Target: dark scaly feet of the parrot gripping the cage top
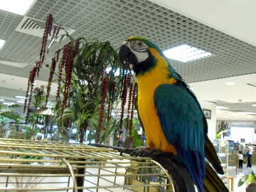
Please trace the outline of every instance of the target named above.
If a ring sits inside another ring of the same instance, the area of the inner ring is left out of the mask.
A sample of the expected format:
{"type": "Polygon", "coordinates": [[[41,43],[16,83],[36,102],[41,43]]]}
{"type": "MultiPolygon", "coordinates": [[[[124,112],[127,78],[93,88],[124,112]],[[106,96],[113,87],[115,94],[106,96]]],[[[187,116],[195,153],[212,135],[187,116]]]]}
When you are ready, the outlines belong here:
{"type": "Polygon", "coordinates": [[[126,149],[123,149],[120,154],[122,155],[122,153],[130,154],[131,156],[142,156],[142,157],[151,157],[151,158],[159,155],[167,156],[167,157],[173,156],[173,154],[164,153],[160,149],[155,149],[155,148],[145,147],[145,146],[139,146],[134,149],[126,148],[126,149]]]}

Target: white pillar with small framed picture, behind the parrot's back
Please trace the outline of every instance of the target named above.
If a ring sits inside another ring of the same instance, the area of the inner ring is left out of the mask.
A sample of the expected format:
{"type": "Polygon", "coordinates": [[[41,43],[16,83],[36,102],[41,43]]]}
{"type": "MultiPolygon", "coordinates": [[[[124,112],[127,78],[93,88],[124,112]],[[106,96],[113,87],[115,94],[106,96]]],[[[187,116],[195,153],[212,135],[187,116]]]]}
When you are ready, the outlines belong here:
{"type": "Polygon", "coordinates": [[[208,123],[208,137],[212,141],[213,139],[215,139],[215,134],[216,134],[216,105],[211,102],[204,102],[201,100],[198,100],[198,101],[202,109],[211,111],[211,117],[210,119],[207,119],[207,123],[208,123]]]}

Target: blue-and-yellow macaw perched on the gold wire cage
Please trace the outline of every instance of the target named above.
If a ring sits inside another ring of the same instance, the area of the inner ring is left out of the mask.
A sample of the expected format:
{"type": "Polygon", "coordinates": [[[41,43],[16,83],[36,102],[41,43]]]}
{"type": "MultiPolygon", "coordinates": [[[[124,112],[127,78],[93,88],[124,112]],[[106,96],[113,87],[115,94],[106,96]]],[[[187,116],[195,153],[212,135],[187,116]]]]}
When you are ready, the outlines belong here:
{"type": "Polygon", "coordinates": [[[158,46],[145,38],[132,36],[124,41],[119,58],[136,75],[146,146],[174,154],[198,191],[204,191],[205,156],[219,174],[223,169],[208,139],[206,117],[196,96],[158,46]]]}

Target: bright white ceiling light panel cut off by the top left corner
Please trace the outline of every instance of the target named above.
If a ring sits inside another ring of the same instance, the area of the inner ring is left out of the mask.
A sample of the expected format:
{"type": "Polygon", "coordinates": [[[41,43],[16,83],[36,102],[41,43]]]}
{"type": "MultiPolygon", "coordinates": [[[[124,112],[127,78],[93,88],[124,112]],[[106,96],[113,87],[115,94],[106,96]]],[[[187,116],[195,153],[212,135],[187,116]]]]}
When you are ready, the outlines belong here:
{"type": "Polygon", "coordinates": [[[13,14],[25,15],[28,9],[33,4],[34,0],[1,0],[0,9],[4,11],[9,11],[13,14]]]}

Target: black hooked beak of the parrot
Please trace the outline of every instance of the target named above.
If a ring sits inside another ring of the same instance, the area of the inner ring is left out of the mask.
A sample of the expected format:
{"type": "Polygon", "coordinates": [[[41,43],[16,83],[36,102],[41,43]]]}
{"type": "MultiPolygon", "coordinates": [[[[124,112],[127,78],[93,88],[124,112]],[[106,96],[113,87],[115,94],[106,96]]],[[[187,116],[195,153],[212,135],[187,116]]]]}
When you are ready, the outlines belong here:
{"type": "Polygon", "coordinates": [[[125,44],[119,50],[119,59],[122,65],[136,65],[138,63],[136,55],[125,44]]]}

